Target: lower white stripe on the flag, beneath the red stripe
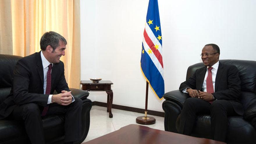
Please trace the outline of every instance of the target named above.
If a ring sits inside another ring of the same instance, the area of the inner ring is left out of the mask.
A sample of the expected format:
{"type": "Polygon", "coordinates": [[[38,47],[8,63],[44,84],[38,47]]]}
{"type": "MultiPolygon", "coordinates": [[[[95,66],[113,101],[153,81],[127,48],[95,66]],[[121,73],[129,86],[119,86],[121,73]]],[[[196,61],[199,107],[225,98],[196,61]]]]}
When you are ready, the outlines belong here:
{"type": "MultiPolygon", "coordinates": [[[[143,46],[144,46],[144,49],[145,49],[144,52],[146,52],[148,54],[148,49],[150,49],[150,47],[147,45],[147,42],[145,41],[144,36],[143,36],[143,41],[142,42],[143,42],[143,46]]],[[[154,65],[157,67],[157,70],[160,72],[160,74],[163,77],[163,67],[162,67],[161,63],[159,63],[159,61],[158,61],[157,57],[155,56],[155,54],[153,53],[153,51],[152,51],[151,54],[148,54],[148,56],[151,58],[154,65]]]]}

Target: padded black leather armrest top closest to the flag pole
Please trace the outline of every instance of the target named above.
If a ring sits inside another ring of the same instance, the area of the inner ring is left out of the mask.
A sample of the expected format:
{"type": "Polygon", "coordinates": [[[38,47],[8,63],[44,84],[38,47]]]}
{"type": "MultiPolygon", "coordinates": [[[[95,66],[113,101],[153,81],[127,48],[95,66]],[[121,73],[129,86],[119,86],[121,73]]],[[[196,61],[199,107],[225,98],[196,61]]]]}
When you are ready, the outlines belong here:
{"type": "Polygon", "coordinates": [[[187,93],[183,93],[179,90],[173,90],[163,95],[164,99],[173,101],[177,103],[179,106],[183,106],[185,100],[189,98],[187,93]]]}

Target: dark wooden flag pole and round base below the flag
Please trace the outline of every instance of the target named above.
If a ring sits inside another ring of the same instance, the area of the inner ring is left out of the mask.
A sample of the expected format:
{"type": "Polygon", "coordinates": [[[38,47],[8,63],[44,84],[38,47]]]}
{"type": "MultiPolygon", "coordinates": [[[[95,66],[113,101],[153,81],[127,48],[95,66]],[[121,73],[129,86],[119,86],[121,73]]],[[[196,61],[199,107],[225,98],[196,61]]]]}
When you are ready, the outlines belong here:
{"type": "Polygon", "coordinates": [[[147,96],[148,96],[148,82],[146,83],[146,103],[145,103],[145,116],[139,116],[136,118],[136,122],[142,125],[152,125],[156,123],[156,119],[147,116],[147,96]]]}

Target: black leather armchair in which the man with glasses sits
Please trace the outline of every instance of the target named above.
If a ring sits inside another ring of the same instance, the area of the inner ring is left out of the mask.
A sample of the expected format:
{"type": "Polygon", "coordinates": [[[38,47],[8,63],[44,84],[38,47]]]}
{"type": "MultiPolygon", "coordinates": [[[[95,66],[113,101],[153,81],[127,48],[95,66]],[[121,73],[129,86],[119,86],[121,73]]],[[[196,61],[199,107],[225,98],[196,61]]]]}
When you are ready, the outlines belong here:
{"type": "MultiPolygon", "coordinates": [[[[245,114],[248,114],[248,118],[252,119],[253,116],[250,117],[250,115],[254,114],[254,116],[256,116],[256,61],[220,60],[220,62],[223,64],[235,65],[238,68],[241,79],[241,102],[245,114]]],[[[203,66],[203,63],[189,66],[186,79],[189,79],[189,77],[194,74],[195,70],[203,66]]],[[[166,131],[177,133],[176,127],[179,125],[179,114],[189,95],[182,93],[179,90],[174,90],[165,93],[163,97],[166,99],[162,104],[165,112],[164,128],[166,131]]],[[[253,125],[250,124],[250,119],[245,120],[242,116],[229,117],[226,142],[229,144],[255,144],[256,127],[254,128],[253,125]]],[[[191,135],[212,139],[210,125],[210,115],[198,116],[191,135]]]]}

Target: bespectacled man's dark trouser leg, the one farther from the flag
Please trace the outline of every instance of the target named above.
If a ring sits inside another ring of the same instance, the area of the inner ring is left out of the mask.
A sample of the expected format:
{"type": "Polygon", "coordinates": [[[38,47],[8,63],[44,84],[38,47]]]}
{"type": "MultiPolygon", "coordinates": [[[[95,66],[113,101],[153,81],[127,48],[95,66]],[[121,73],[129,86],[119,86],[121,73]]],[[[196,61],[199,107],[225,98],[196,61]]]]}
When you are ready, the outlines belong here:
{"type": "Polygon", "coordinates": [[[211,104],[211,134],[214,140],[225,142],[228,116],[235,115],[233,106],[227,100],[216,100],[211,104]]]}

